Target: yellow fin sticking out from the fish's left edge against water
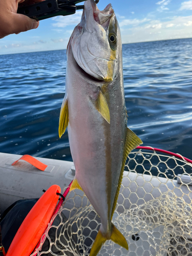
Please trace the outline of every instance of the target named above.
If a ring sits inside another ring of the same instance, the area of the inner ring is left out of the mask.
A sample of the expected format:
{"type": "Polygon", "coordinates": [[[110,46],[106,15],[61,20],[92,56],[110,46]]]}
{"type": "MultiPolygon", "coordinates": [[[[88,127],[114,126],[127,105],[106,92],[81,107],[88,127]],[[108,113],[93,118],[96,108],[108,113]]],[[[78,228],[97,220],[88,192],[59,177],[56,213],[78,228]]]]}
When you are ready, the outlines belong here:
{"type": "Polygon", "coordinates": [[[63,99],[59,116],[59,138],[65,133],[69,123],[68,99],[63,99]]]}

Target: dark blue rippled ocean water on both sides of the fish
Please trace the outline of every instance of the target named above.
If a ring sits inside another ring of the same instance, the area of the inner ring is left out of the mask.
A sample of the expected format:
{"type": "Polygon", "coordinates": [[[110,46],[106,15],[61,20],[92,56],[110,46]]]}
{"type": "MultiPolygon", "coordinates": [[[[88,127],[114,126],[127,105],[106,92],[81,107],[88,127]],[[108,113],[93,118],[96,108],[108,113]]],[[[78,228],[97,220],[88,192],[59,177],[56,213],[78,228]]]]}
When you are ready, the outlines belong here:
{"type": "MultiPolygon", "coordinates": [[[[192,159],[192,38],[123,45],[127,125],[192,159]]],[[[66,50],[0,55],[0,152],[72,161],[59,139],[66,50]]]]}

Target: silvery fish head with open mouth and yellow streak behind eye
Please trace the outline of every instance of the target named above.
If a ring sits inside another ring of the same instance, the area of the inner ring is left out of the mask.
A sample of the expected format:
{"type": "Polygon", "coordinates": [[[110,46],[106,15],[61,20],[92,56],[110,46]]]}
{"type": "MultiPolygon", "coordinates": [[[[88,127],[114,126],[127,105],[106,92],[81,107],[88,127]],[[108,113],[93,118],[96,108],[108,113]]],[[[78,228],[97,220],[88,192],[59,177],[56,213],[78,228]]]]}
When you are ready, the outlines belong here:
{"type": "Polygon", "coordinates": [[[111,4],[100,11],[94,0],[87,0],[70,43],[80,68],[96,79],[114,80],[119,69],[121,36],[111,4]]]}

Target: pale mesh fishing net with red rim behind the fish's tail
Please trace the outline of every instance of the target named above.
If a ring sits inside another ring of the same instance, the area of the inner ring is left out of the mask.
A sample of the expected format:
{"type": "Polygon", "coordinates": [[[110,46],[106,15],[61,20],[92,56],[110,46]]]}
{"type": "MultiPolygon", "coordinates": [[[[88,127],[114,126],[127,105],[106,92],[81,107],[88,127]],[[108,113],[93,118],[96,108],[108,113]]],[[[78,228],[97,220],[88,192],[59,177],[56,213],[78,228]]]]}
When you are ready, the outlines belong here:
{"type": "MultiPolygon", "coordinates": [[[[129,251],[106,241],[98,255],[192,256],[192,161],[139,147],[125,165],[113,223],[129,251]]],[[[98,198],[99,200],[99,198],[98,198]]],[[[32,255],[89,255],[100,218],[71,191],[32,255]]]]}

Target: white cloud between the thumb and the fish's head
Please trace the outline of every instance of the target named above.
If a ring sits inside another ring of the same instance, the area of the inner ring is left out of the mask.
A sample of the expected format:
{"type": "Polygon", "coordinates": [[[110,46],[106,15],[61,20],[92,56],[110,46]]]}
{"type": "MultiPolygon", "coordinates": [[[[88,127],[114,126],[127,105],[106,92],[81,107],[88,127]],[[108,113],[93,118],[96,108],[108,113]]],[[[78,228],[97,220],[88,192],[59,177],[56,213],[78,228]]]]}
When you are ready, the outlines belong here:
{"type": "Polygon", "coordinates": [[[56,28],[65,28],[70,25],[76,26],[80,23],[81,16],[82,11],[76,11],[76,13],[73,15],[53,17],[52,20],[54,21],[54,23],[52,24],[52,26],[56,28]]]}

